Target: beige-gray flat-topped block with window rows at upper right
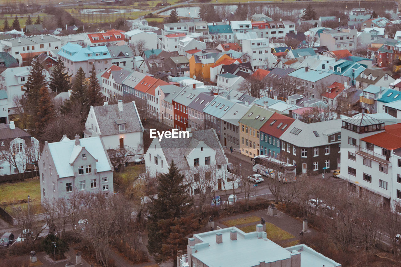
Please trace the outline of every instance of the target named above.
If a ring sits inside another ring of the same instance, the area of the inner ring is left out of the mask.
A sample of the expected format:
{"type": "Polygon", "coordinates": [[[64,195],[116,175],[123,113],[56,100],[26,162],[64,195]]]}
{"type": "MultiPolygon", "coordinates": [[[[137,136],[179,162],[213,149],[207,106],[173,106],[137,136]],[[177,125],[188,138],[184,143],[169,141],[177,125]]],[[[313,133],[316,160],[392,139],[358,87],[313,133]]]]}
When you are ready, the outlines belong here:
{"type": "Polygon", "coordinates": [[[320,45],[325,45],[330,51],[356,49],[356,29],[336,28],[324,30],[320,34],[320,45]]]}

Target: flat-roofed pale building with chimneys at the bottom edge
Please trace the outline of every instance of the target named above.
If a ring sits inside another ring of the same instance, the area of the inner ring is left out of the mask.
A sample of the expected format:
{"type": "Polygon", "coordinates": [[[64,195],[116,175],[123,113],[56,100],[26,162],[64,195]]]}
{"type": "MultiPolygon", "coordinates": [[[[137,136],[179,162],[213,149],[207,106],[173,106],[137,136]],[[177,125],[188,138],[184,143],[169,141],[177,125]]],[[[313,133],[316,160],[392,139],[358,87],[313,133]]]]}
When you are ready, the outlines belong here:
{"type": "Polygon", "coordinates": [[[341,267],[340,263],[306,245],[287,248],[277,245],[267,239],[264,227],[258,224],[256,231],[251,233],[245,233],[237,227],[228,227],[195,234],[188,238],[187,254],[179,257],[177,266],[341,267]]]}

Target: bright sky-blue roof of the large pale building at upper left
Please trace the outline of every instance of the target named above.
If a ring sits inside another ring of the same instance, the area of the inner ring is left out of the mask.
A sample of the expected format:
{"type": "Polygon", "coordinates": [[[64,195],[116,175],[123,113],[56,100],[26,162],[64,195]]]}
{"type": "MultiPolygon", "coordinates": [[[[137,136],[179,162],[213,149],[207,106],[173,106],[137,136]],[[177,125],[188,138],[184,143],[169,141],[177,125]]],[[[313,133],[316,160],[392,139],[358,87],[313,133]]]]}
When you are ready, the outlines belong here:
{"type": "Polygon", "coordinates": [[[105,45],[96,47],[81,47],[79,44],[68,42],[61,47],[59,53],[61,57],[65,57],[71,61],[87,61],[88,59],[109,59],[109,50],[105,45]]]}

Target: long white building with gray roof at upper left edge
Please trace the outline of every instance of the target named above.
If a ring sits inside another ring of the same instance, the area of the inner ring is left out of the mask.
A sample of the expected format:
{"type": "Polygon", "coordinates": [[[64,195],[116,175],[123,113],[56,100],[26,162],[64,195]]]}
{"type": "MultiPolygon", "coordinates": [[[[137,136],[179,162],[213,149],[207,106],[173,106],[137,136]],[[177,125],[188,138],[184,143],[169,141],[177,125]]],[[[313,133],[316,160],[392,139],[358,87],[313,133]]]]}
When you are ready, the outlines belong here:
{"type": "Polygon", "coordinates": [[[47,52],[61,48],[61,38],[51,34],[42,34],[0,40],[4,51],[17,58],[20,53],[47,52]]]}

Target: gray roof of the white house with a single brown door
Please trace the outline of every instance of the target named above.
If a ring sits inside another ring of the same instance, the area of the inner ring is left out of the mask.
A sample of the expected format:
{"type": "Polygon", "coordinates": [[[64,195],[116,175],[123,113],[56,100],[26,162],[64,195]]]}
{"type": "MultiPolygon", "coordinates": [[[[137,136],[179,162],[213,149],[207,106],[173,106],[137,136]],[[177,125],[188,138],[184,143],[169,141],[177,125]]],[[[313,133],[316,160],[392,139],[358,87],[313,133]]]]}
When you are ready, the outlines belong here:
{"type": "Polygon", "coordinates": [[[118,119],[123,119],[126,122],[124,133],[143,131],[139,114],[133,102],[123,103],[123,111],[118,110],[118,104],[93,107],[102,136],[122,133],[115,123],[118,119]]]}

